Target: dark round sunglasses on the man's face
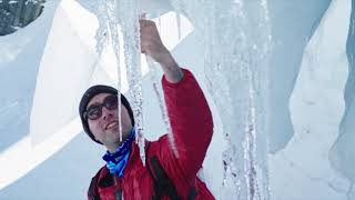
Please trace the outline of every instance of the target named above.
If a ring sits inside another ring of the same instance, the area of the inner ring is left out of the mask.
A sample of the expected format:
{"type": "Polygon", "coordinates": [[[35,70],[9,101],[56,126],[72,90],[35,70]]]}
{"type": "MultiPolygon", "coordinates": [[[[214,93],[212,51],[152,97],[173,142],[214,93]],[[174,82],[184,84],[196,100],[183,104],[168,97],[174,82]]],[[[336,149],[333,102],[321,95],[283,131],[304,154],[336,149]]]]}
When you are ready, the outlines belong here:
{"type": "Polygon", "coordinates": [[[105,107],[109,110],[118,108],[118,97],[108,96],[103,99],[102,103],[91,104],[87,111],[83,113],[85,119],[97,120],[102,116],[102,107],[105,107]]]}

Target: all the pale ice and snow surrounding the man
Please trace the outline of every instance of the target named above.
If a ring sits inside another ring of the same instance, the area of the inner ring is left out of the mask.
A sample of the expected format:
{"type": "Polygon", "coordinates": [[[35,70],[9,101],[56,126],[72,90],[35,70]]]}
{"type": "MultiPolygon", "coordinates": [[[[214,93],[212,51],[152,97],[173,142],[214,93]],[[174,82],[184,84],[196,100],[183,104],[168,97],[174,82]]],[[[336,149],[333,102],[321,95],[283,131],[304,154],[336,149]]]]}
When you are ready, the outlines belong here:
{"type": "Polygon", "coordinates": [[[129,97],[143,163],[144,138],[172,136],[141,13],[207,98],[216,199],[355,200],[354,0],[45,1],[0,37],[0,199],[87,199],[105,152],[78,116],[92,84],[129,97]]]}

